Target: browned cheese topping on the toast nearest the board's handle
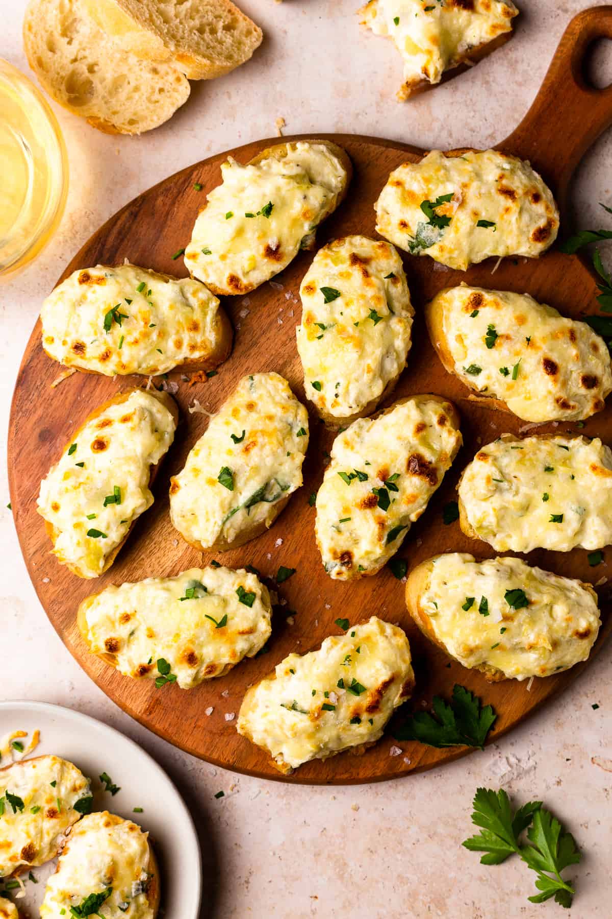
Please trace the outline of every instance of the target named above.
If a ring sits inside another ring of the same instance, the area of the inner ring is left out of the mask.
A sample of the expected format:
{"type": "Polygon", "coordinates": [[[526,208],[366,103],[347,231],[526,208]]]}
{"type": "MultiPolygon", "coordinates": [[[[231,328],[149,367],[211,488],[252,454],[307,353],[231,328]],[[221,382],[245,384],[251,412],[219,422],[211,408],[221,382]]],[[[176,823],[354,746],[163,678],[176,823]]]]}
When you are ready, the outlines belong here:
{"type": "Polygon", "coordinates": [[[559,230],[559,212],[538,173],[495,150],[448,157],[434,150],[420,163],[398,166],[374,210],[385,239],[462,270],[489,255],[536,257],[559,230]]]}

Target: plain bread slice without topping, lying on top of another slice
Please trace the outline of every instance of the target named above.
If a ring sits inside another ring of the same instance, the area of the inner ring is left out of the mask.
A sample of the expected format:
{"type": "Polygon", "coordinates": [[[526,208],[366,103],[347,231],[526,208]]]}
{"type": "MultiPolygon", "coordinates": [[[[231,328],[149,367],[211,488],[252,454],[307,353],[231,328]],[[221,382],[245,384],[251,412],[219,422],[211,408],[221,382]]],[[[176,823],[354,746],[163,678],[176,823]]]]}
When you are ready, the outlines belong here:
{"type": "Polygon", "coordinates": [[[145,61],[211,80],[248,61],[261,28],[229,0],[84,0],[98,26],[145,61]]]}

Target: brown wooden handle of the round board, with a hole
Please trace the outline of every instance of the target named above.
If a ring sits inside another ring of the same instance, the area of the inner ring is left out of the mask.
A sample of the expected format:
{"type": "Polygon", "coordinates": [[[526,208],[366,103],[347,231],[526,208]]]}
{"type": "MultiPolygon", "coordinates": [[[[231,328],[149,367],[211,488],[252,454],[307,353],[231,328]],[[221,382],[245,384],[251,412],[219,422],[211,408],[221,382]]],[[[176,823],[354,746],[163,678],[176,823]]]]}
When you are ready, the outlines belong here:
{"type": "Polygon", "coordinates": [[[500,144],[542,173],[562,215],[574,168],[612,124],[612,85],[596,89],[584,75],[593,42],[602,38],[612,39],[612,6],[585,9],[573,18],[527,115],[500,144]]]}

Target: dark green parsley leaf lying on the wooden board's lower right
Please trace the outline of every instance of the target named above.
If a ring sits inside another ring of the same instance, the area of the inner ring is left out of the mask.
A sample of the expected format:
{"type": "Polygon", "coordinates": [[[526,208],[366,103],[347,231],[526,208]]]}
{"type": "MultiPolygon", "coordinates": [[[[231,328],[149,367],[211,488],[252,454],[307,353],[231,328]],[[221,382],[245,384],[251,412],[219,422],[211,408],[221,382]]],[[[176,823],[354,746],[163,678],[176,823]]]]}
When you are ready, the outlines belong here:
{"type": "Polygon", "coordinates": [[[497,717],[490,705],[483,708],[479,698],[457,683],[453,686],[450,704],[440,696],[434,696],[433,712],[415,712],[406,724],[395,730],[395,740],[418,741],[434,747],[473,746],[483,749],[486,735],[497,717]]]}

